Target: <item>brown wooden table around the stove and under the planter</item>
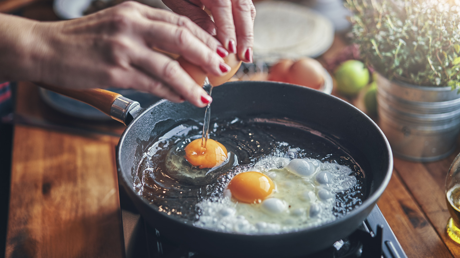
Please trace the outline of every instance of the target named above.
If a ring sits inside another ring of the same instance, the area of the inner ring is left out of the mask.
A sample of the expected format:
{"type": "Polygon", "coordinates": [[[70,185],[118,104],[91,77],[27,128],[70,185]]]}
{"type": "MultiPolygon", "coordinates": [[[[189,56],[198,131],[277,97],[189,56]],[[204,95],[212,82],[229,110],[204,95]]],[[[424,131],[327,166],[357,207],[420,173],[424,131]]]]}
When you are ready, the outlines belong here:
{"type": "MultiPolygon", "coordinates": [[[[23,14],[56,19],[50,3],[40,0],[23,14]]],[[[16,112],[6,257],[124,257],[115,168],[124,126],[59,114],[29,83],[19,84],[16,112]]],[[[395,158],[378,205],[408,257],[460,258],[460,245],[445,233],[444,200],[444,180],[459,151],[431,163],[395,158]]]]}

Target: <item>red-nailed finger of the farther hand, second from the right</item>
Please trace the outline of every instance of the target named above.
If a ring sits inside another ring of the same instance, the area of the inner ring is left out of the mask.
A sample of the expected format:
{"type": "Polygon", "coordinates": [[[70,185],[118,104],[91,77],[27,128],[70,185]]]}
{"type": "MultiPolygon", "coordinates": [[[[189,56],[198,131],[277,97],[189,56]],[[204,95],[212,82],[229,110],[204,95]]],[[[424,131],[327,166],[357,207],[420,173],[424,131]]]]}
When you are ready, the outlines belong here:
{"type": "Polygon", "coordinates": [[[231,53],[236,54],[236,32],[230,0],[202,0],[213,14],[217,27],[217,38],[231,53]]]}

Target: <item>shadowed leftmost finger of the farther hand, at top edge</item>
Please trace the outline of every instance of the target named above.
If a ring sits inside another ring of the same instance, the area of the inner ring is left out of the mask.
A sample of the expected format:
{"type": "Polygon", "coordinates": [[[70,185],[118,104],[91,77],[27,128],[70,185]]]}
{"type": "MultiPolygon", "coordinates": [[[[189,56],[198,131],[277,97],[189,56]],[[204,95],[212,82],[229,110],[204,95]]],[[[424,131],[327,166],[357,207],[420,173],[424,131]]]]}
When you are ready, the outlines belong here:
{"type": "Polygon", "coordinates": [[[216,25],[207,12],[203,10],[203,6],[199,2],[166,1],[165,5],[175,13],[189,17],[192,22],[195,22],[208,34],[212,36],[216,35],[216,25]]]}

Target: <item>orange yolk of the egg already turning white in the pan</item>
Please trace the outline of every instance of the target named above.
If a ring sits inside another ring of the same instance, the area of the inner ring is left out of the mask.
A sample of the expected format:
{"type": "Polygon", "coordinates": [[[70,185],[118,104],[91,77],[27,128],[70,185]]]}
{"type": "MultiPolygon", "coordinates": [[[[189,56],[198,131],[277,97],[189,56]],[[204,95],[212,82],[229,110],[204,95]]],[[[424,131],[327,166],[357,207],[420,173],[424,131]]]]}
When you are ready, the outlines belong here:
{"type": "Polygon", "coordinates": [[[233,197],[247,203],[261,202],[270,196],[274,188],[273,181],[268,176],[255,171],[237,174],[228,185],[233,197]]]}

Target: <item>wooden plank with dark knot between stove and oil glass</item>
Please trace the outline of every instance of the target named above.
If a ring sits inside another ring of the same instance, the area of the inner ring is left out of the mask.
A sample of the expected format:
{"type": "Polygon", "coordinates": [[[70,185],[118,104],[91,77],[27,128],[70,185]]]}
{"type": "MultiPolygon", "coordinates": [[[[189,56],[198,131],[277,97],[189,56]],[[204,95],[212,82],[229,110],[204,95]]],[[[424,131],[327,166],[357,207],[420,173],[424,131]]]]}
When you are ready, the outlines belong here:
{"type": "Polygon", "coordinates": [[[397,172],[378,205],[409,258],[452,257],[397,172]]]}

